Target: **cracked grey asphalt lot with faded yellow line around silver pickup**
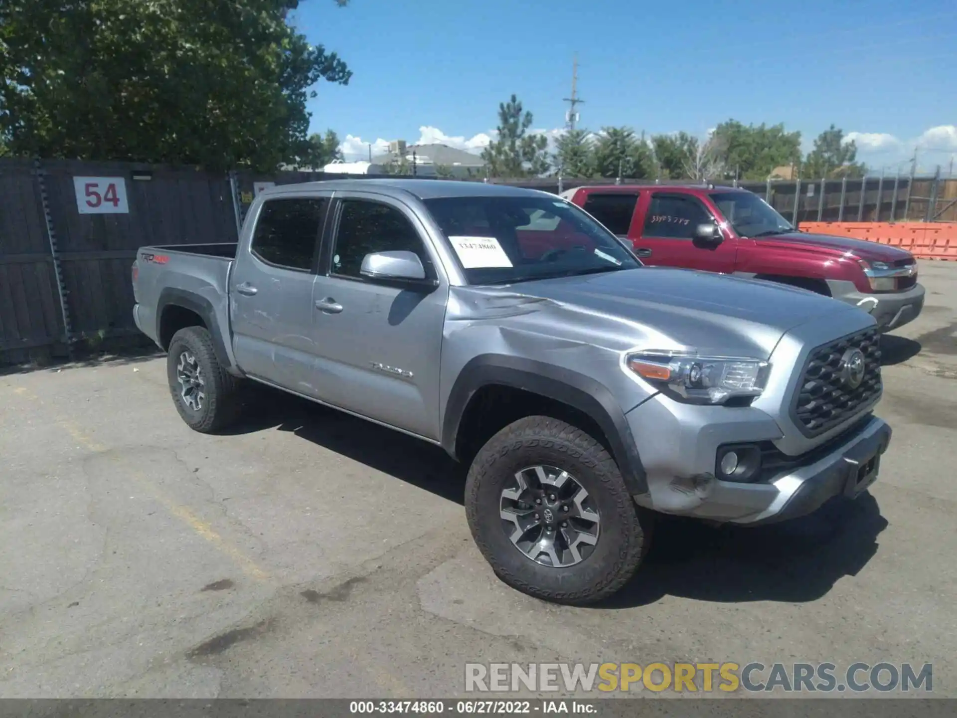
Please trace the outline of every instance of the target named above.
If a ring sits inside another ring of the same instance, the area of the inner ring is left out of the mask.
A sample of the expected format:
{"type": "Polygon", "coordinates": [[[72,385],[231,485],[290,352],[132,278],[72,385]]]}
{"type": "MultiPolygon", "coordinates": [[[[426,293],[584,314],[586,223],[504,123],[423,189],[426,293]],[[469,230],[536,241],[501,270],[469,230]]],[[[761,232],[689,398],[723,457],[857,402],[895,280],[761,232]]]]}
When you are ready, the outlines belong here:
{"type": "Polygon", "coordinates": [[[466,662],[933,663],[957,696],[957,263],[885,337],[893,426],[853,503],[667,520],[592,608],[498,581],[464,470],[279,393],[224,436],[165,359],[0,375],[0,697],[448,697],[466,662]]]}

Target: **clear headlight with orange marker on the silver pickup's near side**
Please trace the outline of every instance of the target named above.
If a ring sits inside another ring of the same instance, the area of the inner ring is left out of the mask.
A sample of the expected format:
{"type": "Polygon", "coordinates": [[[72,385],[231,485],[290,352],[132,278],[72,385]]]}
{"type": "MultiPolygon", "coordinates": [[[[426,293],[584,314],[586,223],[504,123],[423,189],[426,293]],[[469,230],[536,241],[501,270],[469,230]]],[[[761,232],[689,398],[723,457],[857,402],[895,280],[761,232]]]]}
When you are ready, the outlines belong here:
{"type": "Polygon", "coordinates": [[[758,396],[770,371],[768,362],[758,359],[656,350],[629,354],[625,365],[650,383],[701,404],[758,396]]]}

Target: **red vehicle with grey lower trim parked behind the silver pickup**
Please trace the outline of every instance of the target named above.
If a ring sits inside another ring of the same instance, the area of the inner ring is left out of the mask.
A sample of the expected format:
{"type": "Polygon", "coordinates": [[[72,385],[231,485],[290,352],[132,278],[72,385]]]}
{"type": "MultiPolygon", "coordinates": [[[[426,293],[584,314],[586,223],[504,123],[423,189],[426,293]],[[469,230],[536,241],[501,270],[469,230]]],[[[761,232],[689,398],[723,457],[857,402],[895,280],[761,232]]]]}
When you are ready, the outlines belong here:
{"type": "Polygon", "coordinates": [[[856,304],[882,331],[924,307],[917,262],[898,247],[798,232],[753,192],[713,185],[579,187],[563,192],[645,264],[810,289],[856,304]]]}

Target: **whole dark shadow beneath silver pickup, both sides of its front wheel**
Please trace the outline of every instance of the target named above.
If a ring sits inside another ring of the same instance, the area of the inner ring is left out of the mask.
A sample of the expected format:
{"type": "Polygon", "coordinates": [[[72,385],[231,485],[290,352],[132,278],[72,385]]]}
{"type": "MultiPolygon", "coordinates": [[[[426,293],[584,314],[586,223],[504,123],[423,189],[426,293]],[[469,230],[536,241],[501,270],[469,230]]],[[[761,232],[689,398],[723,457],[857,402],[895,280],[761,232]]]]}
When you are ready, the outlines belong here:
{"type": "MultiPolygon", "coordinates": [[[[438,446],[265,388],[255,388],[245,416],[224,433],[292,432],[464,504],[467,468],[438,446]]],[[[665,595],[720,603],[812,601],[867,564],[885,527],[877,501],[866,492],[856,501],[835,500],[809,516],[766,527],[713,527],[659,517],[652,549],[632,582],[595,608],[634,608],[665,595]]]]}

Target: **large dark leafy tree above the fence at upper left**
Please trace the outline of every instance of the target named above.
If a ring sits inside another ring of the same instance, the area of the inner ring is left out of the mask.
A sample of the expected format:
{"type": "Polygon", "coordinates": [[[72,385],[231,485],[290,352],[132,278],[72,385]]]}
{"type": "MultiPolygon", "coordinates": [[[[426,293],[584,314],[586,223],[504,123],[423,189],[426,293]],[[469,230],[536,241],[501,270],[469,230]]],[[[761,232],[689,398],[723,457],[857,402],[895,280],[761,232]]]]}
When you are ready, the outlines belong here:
{"type": "Polygon", "coordinates": [[[0,0],[0,135],[43,157],[294,162],[309,151],[313,86],[351,76],[287,24],[298,5],[0,0]]]}

